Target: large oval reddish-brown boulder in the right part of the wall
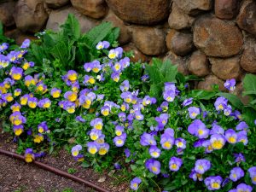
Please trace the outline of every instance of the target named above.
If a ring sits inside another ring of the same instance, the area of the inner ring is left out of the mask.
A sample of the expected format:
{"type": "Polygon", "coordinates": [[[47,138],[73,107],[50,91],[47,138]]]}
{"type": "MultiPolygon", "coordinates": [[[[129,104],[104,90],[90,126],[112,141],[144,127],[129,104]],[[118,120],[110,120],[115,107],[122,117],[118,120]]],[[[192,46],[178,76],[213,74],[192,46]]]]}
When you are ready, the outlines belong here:
{"type": "Polygon", "coordinates": [[[195,21],[194,44],[206,55],[229,57],[240,52],[243,37],[239,28],[232,23],[202,16],[195,21]]]}

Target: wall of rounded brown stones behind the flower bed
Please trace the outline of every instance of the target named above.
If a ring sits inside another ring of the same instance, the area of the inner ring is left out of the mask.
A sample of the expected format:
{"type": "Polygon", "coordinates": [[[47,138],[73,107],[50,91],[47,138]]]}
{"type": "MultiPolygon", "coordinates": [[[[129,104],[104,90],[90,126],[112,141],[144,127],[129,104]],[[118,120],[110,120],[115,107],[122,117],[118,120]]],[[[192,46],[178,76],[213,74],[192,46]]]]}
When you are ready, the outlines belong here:
{"type": "MultiPolygon", "coordinates": [[[[18,0],[0,4],[6,34],[18,43],[44,28],[57,30],[73,13],[83,32],[102,20],[120,27],[119,43],[135,58],[170,58],[180,72],[206,80],[256,73],[255,0],[18,0]]],[[[238,85],[238,88],[241,84],[238,85]]],[[[238,89],[238,91],[240,91],[238,89]]]]}

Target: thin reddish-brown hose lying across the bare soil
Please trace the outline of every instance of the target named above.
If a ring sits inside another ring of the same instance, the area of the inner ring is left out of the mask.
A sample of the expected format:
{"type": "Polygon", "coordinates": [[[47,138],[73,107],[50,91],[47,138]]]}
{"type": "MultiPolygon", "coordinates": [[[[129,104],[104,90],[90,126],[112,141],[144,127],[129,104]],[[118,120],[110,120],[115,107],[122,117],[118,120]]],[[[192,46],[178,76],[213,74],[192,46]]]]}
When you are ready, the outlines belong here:
{"type": "MultiPolygon", "coordinates": [[[[9,151],[6,151],[6,150],[3,150],[0,148],[0,154],[5,154],[9,157],[12,157],[12,158],[15,158],[15,159],[18,159],[18,160],[24,160],[25,161],[25,157],[20,155],[20,154],[15,154],[15,153],[12,153],[12,152],[9,152],[9,151]]],[[[37,160],[34,160],[32,161],[33,164],[39,166],[40,168],[44,169],[44,170],[47,170],[49,172],[53,172],[55,173],[56,175],[60,175],[61,177],[67,177],[69,179],[72,179],[73,181],[75,182],[78,182],[78,183],[84,183],[87,187],[90,187],[91,189],[96,189],[96,191],[100,191],[100,192],[110,192],[109,190],[107,189],[103,189],[102,187],[99,187],[97,185],[95,185],[94,183],[90,183],[89,181],[86,181],[80,177],[76,177],[74,175],[71,175],[67,172],[63,172],[59,169],[56,169],[55,167],[52,167],[52,166],[48,166],[44,163],[41,163],[37,160]]]]}

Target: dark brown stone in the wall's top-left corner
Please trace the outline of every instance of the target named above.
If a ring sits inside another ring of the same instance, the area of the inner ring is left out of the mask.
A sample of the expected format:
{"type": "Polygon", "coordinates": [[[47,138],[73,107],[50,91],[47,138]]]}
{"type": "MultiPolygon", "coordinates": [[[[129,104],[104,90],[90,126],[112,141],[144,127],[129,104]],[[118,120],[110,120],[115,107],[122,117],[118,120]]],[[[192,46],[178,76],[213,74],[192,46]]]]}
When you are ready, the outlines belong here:
{"type": "Polygon", "coordinates": [[[4,26],[15,25],[15,20],[13,14],[15,12],[15,2],[9,1],[0,4],[0,20],[4,26]]]}

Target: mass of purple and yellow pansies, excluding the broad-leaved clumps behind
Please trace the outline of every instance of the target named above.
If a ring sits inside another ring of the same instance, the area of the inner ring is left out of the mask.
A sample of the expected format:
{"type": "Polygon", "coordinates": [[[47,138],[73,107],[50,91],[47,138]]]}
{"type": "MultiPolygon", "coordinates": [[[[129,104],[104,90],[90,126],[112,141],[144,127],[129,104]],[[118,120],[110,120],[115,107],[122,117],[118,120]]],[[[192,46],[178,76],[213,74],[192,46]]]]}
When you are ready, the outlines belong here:
{"type": "MultiPolygon", "coordinates": [[[[33,150],[68,141],[74,160],[97,169],[131,164],[133,190],[218,190],[232,183],[227,190],[252,191],[256,168],[247,156],[254,148],[253,130],[224,96],[205,102],[184,84],[162,82],[156,98],[143,66],[106,41],[96,45],[105,56],[52,79],[27,72],[36,66],[26,60],[29,44],[11,51],[0,45],[0,108],[16,139],[32,146],[26,162],[43,155],[33,150]]],[[[235,90],[236,81],[224,86],[235,90]]]]}

